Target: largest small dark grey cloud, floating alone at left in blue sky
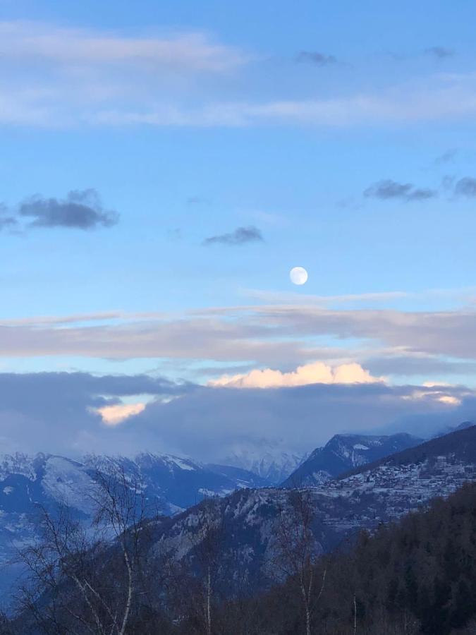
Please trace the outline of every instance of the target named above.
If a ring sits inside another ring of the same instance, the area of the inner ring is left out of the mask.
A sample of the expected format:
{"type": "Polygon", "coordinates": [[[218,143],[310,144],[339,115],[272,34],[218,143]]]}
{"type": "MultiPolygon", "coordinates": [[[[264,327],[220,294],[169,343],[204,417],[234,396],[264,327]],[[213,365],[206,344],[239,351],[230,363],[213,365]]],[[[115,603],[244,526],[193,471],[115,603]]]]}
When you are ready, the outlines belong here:
{"type": "Polygon", "coordinates": [[[71,191],[64,199],[33,196],[20,205],[18,215],[32,219],[30,227],[94,229],[118,222],[117,212],[104,210],[94,189],[71,191]]]}

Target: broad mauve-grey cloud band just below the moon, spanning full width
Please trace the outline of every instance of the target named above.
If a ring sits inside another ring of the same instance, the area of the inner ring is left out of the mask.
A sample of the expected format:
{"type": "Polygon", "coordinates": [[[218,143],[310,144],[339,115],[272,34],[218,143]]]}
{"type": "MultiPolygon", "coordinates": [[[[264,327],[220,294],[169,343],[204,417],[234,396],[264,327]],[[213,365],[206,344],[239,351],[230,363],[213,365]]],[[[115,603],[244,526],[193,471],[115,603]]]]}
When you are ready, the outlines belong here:
{"type": "Polygon", "coordinates": [[[319,359],[330,365],[359,363],[377,376],[415,375],[422,358],[431,358],[426,363],[434,377],[472,373],[475,334],[476,311],[470,308],[329,308],[322,298],[322,303],[218,306],[181,315],[110,312],[0,320],[0,356],[78,356],[109,363],[143,358],[162,368],[182,359],[194,368],[190,373],[216,362],[288,369],[319,359]],[[412,366],[405,361],[410,357],[420,361],[412,366]],[[200,365],[193,367],[194,361],[200,365]]]}

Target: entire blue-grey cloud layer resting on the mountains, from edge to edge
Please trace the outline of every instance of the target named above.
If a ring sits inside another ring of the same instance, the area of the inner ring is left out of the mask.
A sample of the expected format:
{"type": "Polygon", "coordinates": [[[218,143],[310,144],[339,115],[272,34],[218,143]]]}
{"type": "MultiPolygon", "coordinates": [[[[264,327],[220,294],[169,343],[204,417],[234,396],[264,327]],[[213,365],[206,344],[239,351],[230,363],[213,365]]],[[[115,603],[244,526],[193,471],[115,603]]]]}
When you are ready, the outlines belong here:
{"type": "Polygon", "coordinates": [[[425,435],[475,413],[474,392],[458,386],[374,382],[233,389],[146,375],[0,373],[4,452],[172,452],[218,462],[237,445],[255,452],[263,444],[309,452],[336,433],[425,435]],[[143,394],[154,400],[115,425],[97,412],[109,406],[124,411],[122,397],[143,394]]]}

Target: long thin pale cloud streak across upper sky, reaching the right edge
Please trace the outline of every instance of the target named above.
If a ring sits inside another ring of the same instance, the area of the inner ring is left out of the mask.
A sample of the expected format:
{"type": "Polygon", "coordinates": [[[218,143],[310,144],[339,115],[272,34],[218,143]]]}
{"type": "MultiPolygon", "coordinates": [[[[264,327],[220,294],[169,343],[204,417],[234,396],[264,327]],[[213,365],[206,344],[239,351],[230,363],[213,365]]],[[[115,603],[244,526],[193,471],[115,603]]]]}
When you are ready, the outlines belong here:
{"type": "MultiPolygon", "coordinates": [[[[315,99],[247,99],[237,102],[209,101],[184,107],[99,109],[82,123],[102,126],[227,127],[248,126],[406,126],[445,120],[470,119],[476,114],[474,80],[448,81],[438,87],[398,86],[344,97],[315,99]],[[461,85],[460,85],[461,84],[461,85]],[[467,85],[468,84],[468,85],[467,85]]],[[[1,114],[1,113],[0,113],[1,114]]]]}

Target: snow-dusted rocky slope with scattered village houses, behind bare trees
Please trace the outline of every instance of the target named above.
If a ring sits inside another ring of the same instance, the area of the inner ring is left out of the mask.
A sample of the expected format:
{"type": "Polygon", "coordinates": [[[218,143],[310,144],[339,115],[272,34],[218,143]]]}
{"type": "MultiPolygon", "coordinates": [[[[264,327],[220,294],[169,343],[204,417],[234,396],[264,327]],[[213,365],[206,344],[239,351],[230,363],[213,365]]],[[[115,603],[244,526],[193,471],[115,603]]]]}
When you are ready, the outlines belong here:
{"type": "MultiPolygon", "coordinates": [[[[313,533],[316,549],[328,551],[360,529],[372,531],[379,524],[425,507],[433,497],[446,497],[464,483],[476,480],[476,426],[438,437],[403,450],[353,473],[306,488],[315,510],[313,533]]],[[[276,553],[277,523],[289,505],[288,490],[267,488],[237,490],[217,501],[227,528],[221,566],[252,580],[269,582],[269,564],[276,553]]],[[[171,553],[177,544],[190,545],[181,557],[193,557],[193,540],[205,514],[202,504],[157,521],[155,545],[171,553]]],[[[152,545],[151,557],[155,547],[152,545]]],[[[239,576],[238,576],[239,577],[239,576]]]]}

